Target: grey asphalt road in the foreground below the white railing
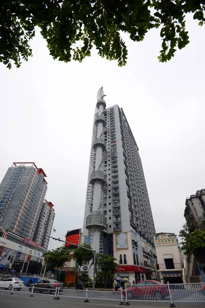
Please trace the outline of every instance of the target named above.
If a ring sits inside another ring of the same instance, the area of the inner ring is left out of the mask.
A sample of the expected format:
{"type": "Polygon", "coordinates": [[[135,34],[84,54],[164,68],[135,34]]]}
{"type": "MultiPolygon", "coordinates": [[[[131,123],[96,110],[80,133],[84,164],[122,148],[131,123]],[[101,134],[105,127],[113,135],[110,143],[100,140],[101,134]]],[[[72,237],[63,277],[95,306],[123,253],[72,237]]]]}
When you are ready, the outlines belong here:
{"type": "MultiPolygon", "coordinates": [[[[53,300],[53,295],[34,294],[34,297],[29,297],[29,293],[10,292],[0,290],[1,308],[103,308],[103,307],[119,307],[117,300],[96,300],[90,299],[89,303],[84,303],[81,298],[62,297],[60,300],[53,300]]],[[[136,308],[168,308],[170,302],[136,302],[131,301],[130,307],[136,308]]],[[[176,308],[204,308],[204,303],[175,303],[176,308]]]]}

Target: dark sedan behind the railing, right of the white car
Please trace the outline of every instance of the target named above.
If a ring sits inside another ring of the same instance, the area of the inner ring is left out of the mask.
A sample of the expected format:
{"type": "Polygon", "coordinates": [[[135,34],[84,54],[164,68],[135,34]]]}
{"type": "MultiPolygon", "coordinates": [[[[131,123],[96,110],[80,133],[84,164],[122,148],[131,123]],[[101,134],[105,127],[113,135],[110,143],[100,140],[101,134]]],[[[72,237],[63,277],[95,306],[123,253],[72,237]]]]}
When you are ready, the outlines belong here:
{"type": "Polygon", "coordinates": [[[51,294],[52,292],[54,293],[55,290],[52,289],[55,289],[56,287],[60,287],[60,292],[62,292],[62,289],[64,288],[63,283],[54,279],[43,279],[38,281],[37,283],[32,283],[29,286],[30,292],[32,291],[32,286],[34,286],[34,292],[46,292],[47,294],[51,294]]]}

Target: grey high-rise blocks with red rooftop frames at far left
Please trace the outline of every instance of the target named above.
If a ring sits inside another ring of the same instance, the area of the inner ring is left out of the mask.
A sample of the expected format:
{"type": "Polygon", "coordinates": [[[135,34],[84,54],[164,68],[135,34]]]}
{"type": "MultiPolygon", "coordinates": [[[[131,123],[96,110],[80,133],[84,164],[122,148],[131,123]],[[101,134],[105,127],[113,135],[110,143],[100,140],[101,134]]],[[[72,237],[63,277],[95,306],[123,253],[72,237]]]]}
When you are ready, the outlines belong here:
{"type": "Polygon", "coordinates": [[[48,247],[44,234],[52,228],[53,210],[42,212],[47,208],[45,177],[44,170],[34,163],[13,163],[8,169],[0,184],[0,227],[4,238],[19,244],[22,239],[27,244],[35,239],[40,241],[37,245],[48,247]]]}

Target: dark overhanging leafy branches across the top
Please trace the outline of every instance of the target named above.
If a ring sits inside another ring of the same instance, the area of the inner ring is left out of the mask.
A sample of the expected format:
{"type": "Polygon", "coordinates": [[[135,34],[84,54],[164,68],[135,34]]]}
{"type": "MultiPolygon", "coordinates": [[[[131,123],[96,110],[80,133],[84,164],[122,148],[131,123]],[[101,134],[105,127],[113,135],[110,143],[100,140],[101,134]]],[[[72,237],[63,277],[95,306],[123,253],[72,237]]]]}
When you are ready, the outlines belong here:
{"type": "Polygon", "coordinates": [[[128,50],[121,33],[143,41],[152,28],[161,28],[158,59],[166,62],[189,43],[186,15],[202,26],[204,1],[198,0],[2,0],[0,62],[10,69],[32,55],[29,41],[35,27],[47,42],[53,59],[81,62],[96,47],[108,60],[126,65],[128,50]]]}

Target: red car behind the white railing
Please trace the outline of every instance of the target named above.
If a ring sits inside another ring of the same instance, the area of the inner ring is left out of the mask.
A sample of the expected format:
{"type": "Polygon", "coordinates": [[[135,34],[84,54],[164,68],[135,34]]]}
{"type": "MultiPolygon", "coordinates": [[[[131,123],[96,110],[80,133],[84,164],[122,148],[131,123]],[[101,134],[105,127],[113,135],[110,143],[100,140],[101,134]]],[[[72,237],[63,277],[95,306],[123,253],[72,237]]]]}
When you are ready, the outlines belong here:
{"type": "MultiPolygon", "coordinates": [[[[165,299],[169,295],[168,285],[155,280],[140,281],[134,286],[127,287],[128,299],[152,298],[154,300],[165,299]]],[[[126,292],[124,291],[124,296],[126,292]]]]}

